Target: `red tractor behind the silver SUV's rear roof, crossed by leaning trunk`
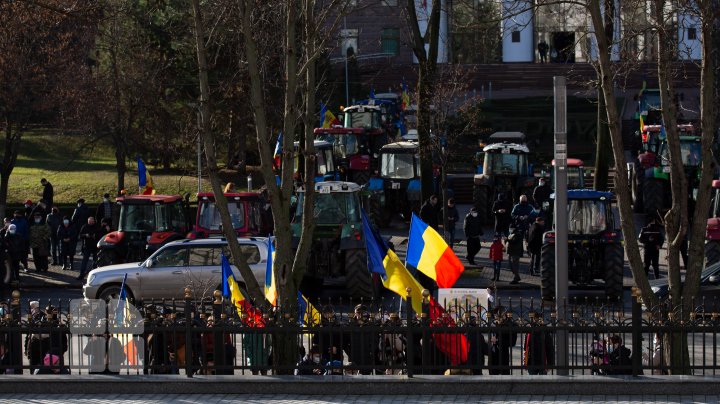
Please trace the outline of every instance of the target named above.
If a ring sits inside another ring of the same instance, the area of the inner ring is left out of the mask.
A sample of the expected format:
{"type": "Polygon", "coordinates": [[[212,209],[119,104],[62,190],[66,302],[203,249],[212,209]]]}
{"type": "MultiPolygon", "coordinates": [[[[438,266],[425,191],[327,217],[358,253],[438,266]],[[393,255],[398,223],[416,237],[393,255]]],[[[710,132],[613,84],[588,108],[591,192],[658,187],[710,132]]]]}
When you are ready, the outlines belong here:
{"type": "MultiPolygon", "coordinates": [[[[257,192],[225,193],[228,200],[230,218],[238,237],[267,236],[261,215],[261,198],[257,192]]],[[[222,237],[220,211],[215,205],[215,194],[198,194],[198,209],[193,231],[188,238],[222,237]]]]}

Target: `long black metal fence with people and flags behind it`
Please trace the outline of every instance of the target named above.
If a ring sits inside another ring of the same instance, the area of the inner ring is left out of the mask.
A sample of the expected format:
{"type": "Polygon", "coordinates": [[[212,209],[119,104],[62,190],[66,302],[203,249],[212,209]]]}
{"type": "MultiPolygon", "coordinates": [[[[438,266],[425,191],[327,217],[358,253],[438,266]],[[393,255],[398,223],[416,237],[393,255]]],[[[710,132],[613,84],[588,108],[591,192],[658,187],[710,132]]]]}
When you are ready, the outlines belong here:
{"type": "Polygon", "coordinates": [[[412,377],[720,370],[716,302],[691,302],[687,315],[679,305],[646,308],[639,300],[630,313],[609,302],[568,302],[563,315],[523,299],[454,302],[444,312],[426,301],[423,313],[407,302],[397,310],[396,303],[318,302],[299,319],[296,305],[238,314],[219,297],[125,310],[117,301],[31,304],[16,294],[0,303],[0,373],[412,377]],[[558,341],[568,342],[567,365],[555,361],[558,341]]]}

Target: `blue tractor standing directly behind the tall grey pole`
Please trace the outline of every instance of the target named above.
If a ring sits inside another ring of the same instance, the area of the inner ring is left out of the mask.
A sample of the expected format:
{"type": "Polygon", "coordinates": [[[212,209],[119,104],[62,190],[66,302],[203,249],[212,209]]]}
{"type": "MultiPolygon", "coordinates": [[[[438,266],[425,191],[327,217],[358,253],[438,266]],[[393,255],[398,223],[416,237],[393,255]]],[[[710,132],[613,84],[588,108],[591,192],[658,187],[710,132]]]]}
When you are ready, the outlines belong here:
{"type": "MultiPolygon", "coordinates": [[[[555,195],[551,196],[554,201],[555,195]]],[[[609,299],[622,299],[625,265],[622,233],[616,229],[613,194],[590,189],[567,191],[568,280],[578,287],[603,281],[609,299]]],[[[548,212],[551,213],[551,212],[548,212]]],[[[550,216],[550,215],[548,215],[550,216]]],[[[540,259],[543,300],[555,299],[555,223],[543,236],[540,259]]]]}

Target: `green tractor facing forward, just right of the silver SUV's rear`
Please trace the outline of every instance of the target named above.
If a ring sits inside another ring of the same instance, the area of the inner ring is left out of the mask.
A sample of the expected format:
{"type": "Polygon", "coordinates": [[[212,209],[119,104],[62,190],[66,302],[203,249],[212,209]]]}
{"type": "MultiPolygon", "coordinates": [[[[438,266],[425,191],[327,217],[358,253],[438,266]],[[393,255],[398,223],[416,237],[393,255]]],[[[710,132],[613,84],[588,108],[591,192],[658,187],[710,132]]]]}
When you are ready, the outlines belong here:
{"type": "MultiPolygon", "coordinates": [[[[317,295],[324,284],[344,283],[350,296],[372,298],[372,276],[361,216],[362,188],[352,182],[326,181],[315,184],[313,220],[315,232],[307,272],[301,288],[317,295]]],[[[302,234],[305,191],[300,189],[292,223],[293,245],[302,234]]]]}

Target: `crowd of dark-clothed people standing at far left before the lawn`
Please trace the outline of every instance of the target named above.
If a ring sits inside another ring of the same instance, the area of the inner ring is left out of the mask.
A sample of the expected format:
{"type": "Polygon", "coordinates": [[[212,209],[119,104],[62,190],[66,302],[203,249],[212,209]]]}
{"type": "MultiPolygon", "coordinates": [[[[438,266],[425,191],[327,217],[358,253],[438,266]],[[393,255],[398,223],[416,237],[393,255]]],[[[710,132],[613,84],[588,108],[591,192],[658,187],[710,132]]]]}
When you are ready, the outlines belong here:
{"type": "Polygon", "coordinates": [[[20,282],[20,273],[31,270],[30,254],[36,272],[48,272],[51,265],[73,270],[78,248],[82,260],[77,279],[81,280],[97,266],[97,243],[112,228],[110,195],[103,195],[94,213],[85,199],[80,198],[71,215],[62,215],[53,205],[53,185],[45,178],[40,183],[41,199],[37,203],[26,200],[24,209],[6,217],[0,229],[2,253],[9,263],[11,281],[20,282]]]}

